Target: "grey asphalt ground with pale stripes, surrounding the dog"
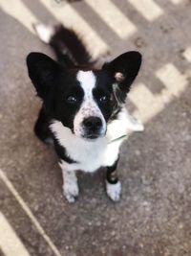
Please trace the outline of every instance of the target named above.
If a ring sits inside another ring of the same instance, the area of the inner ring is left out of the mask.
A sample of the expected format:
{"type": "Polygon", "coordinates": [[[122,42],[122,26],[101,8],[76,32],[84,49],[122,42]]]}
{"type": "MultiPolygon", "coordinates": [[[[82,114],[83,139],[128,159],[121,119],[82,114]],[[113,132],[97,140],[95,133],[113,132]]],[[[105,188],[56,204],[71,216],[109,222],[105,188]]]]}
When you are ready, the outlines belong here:
{"type": "Polygon", "coordinates": [[[0,7],[0,255],[191,255],[191,2],[0,0],[0,7]],[[53,56],[32,22],[56,19],[95,57],[143,55],[128,107],[145,130],[121,149],[117,203],[100,170],[79,175],[80,197],[69,204],[53,149],[32,131],[40,102],[25,58],[53,56]]]}

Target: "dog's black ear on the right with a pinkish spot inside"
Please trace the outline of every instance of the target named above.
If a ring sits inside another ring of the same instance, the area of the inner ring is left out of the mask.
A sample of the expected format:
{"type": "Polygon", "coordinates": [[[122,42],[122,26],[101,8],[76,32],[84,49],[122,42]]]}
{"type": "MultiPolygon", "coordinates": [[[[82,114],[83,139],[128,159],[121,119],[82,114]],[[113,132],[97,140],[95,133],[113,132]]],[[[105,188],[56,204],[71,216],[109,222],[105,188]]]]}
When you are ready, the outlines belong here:
{"type": "Polygon", "coordinates": [[[105,63],[102,69],[109,72],[121,92],[126,94],[129,92],[132,82],[138,75],[140,64],[141,55],[138,52],[127,52],[111,62],[105,63]]]}

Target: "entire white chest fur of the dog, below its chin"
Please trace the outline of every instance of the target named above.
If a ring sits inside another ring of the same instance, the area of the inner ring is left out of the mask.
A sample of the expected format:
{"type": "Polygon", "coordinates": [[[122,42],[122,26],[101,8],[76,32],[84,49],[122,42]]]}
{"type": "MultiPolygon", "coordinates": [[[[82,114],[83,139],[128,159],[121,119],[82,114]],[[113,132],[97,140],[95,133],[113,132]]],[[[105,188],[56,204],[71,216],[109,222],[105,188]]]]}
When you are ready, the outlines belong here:
{"type": "Polygon", "coordinates": [[[61,122],[53,121],[51,129],[54,136],[67,154],[76,161],[74,164],[62,161],[62,167],[68,171],[82,170],[92,173],[101,166],[113,165],[124,138],[112,141],[127,133],[127,123],[126,112],[122,111],[119,118],[108,125],[106,136],[91,142],[75,136],[61,122]]]}

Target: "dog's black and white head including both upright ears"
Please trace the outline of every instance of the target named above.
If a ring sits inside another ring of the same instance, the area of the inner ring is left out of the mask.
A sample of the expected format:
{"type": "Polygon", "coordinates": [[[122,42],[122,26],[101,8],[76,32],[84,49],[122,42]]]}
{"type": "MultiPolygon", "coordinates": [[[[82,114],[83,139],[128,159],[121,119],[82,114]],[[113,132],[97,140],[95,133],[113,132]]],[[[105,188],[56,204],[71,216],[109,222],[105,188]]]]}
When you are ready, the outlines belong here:
{"type": "Polygon", "coordinates": [[[138,75],[141,56],[128,52],[101,70],[67,70],[52,58],[31,53],[29,76],[51,118],[85,139],[105,135],[114,111],[124,103],[138,75]]]}

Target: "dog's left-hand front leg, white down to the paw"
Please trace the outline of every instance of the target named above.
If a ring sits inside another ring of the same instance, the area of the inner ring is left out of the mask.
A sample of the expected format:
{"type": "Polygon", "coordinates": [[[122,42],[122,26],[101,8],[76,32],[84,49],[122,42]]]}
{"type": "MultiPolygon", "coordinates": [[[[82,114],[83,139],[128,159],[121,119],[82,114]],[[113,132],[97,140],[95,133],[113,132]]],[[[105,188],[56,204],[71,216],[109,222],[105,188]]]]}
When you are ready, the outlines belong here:
{"type": "MultiPolygon", "coordinates": [[[[62,167],[61,167],[62,168],[62,167]]],[[[77,177],[75,171],[66,171],[62,168],[63,175],[63,194],[69,202],[74,202],[79,194],[77,177]]]]}

